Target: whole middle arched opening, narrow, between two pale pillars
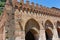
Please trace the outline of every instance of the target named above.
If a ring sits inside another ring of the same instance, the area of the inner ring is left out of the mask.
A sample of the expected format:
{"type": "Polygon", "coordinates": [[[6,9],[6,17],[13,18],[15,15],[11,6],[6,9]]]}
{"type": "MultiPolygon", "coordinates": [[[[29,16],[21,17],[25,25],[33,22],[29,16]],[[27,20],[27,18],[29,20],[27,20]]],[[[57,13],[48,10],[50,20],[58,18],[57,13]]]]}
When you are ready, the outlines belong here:
{"type": "Polygon", "coordinates": [[[53,24],[47,20],[45,22],[45,34],[46,34],[46,40],[52,40],[53,34],[52,34],[53,24]]]}

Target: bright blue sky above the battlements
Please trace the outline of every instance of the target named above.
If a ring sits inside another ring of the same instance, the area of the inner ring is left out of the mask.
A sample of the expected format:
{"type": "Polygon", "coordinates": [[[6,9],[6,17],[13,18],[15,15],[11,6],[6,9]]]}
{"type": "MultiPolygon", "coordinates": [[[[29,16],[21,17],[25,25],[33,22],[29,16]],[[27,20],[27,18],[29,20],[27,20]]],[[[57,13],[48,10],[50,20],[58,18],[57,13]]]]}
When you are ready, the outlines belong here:
{"type": "MultiPolygon", "coordinates": [[[[56,8],[60,8],[60,0],[29,0],[30,3],[34,2],[35,4],[38,3],[39,5],[43,5],[46,7],[56,7],[56,8]]],[[[26,2],[26,0],[24,0],[24,2],[26,2]]]]}

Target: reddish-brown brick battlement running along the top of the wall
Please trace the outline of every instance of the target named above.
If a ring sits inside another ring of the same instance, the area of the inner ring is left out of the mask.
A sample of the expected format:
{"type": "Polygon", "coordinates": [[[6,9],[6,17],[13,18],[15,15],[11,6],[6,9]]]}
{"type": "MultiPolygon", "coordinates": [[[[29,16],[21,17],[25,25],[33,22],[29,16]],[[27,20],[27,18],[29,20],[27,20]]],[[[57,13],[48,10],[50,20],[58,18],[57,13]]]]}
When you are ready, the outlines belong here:
{"type": "Polygon", "coordinates": [[[60,12],[58,10],[53,8],[47,8],[42,5],[39,6],[38,4],[34,4],[34,2],[30,4],[28,0],[26,1],[26,3],[24,3],[24,0],[20,0],[20,2],[15,1],[13,7],[17,8],[18,10],[23,10],[27,12],[29,11],[60,17],[60,12]]]}

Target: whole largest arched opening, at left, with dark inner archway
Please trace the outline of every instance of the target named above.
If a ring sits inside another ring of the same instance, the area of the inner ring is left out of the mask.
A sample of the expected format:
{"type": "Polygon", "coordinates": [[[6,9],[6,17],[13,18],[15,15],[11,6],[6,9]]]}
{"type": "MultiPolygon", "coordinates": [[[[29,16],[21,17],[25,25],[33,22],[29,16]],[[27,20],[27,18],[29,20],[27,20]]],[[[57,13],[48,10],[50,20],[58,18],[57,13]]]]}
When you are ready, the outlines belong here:
{"type": "Polygon", "coordinates": [[[27,21],[25,26],[25,40],[38,40],[39,34],[33,29],[40,30],[39,24],[34,19],[27,21]]]}

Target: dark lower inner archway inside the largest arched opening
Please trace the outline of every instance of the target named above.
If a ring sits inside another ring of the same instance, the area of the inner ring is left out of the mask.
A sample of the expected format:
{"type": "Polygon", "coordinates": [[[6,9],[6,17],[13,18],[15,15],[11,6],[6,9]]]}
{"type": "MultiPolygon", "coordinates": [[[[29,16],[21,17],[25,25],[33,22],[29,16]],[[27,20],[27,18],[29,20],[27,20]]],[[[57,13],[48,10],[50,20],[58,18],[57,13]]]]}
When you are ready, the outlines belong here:
{"type": "Polygon", "coordinates": [[[38,40],[38,39],[39,34],[34,29],[30,29],[25,35],[25,40],[38,40]]]}

